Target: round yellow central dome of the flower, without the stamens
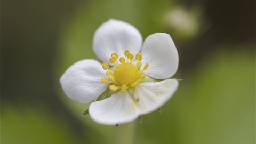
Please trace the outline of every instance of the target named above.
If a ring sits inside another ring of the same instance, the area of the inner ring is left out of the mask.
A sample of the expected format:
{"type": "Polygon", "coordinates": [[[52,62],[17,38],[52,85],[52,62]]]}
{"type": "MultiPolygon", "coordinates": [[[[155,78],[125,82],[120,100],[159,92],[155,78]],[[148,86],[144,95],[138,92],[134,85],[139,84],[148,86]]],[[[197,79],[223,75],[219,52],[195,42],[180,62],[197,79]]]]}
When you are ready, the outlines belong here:
{"type": "Polygon", "coordinates": [[[121,63],[114,70],[115,81],[121,85],[129,85],[136,81],[138,69],[132,63],[121,63]]]}

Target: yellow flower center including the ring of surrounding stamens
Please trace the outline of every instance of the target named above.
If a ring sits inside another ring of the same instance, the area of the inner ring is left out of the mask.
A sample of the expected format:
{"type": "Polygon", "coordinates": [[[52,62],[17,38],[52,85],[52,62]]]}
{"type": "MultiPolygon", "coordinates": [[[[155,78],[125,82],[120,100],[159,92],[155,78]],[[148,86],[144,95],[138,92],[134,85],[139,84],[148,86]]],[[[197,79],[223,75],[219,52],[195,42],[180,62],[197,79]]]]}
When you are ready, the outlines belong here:
{"type": "Polygon", "coordinates": [[[101,78],[102,83],[111,83],[109,85],[109,89],[113,91],[117,91],[121,89],[122,91],[126,91],[129,87],[137,86],[145,77],[145,74],[142,74],[145,69],[148,68],[148,63],[141,68],[142,63],[142,55],[137,53],[135,56],[135,60],[133,60],[133,54],[128,50],[124,52],[126,57],[121,57],[118,59],[117,53],[112,53],[109,61],[114,63],[114,70],[110,70],[107,63],[102,63],[102,68],[107,70],[106,75],[108,78],[101,78]]]}

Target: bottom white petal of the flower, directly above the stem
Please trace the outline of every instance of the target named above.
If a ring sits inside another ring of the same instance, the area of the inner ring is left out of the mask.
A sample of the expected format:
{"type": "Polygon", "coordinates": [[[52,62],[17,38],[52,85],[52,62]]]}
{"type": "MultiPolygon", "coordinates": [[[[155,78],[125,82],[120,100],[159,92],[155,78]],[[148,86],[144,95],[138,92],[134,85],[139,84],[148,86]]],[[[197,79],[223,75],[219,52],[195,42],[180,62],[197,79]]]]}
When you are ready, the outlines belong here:
{"type": "Polygon", "coordinates": [[[89,114],[95,122],[106,125],[131,122],[139,116],[138,109],[127,91],[119,91],[105,100],[91,103],[89,114]]]}

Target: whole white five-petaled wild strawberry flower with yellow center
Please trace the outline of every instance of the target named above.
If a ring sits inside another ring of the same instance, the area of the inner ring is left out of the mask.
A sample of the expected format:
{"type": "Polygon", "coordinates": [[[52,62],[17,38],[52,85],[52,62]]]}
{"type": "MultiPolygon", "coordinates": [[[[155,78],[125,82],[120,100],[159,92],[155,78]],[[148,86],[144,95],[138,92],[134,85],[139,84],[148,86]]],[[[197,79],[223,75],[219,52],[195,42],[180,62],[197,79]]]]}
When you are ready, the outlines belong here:
{"type": "MultiPolygon", "coordinates": [[[[178,88],[171,79],[178,69],[178,52],[170,35],[149,35],[124,21],[104,22],[93,37],[93,51],[103,62],[85,59],[60,78],[69,98],[89,103],[89,115],[100,124],[131,122],[167,102],[178,88]]],[[[85,111],[84,114],[88,111],[85,111]]]]}

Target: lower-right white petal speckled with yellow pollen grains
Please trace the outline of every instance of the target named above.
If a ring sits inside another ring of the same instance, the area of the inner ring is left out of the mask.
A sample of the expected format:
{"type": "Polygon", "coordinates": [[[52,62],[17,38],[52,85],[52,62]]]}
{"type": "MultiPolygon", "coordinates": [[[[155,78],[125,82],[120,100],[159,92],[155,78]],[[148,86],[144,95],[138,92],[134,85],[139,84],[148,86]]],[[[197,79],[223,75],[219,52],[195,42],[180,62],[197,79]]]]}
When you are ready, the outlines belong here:
{"type": "Polygon", "coordinates": [[[133,97],[140,114],[148,114],[164,105],[177,90],[178,85],[177,79],[140,83],[135,87],[133,97]]]}

